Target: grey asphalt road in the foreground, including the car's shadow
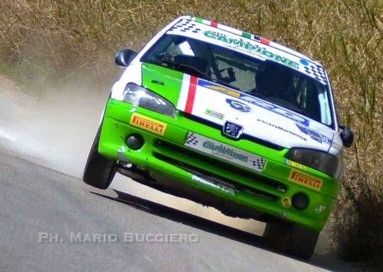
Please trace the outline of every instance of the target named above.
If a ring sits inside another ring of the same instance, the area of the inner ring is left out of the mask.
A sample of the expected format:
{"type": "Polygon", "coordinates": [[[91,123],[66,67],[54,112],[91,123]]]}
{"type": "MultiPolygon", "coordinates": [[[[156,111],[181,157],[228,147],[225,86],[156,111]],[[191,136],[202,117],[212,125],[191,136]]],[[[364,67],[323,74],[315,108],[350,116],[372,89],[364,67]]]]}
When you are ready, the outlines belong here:
{"type": "Polygon", "coordinates": [[[256,235],[8,154],[0,154],[1,271],[357,271],[326,263],[328,255],[284,256],[256,235]]]}

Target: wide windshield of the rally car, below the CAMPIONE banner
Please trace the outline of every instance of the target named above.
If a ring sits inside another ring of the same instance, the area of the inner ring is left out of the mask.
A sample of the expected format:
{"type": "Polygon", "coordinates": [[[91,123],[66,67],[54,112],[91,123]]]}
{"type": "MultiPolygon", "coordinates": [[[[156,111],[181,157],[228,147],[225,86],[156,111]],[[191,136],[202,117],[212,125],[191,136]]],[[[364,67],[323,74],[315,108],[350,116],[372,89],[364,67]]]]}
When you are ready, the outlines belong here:
{"type": "Polygon", "coordinates": [[[141,59],[229,86],[331,126],[328,89],[286,65],[205,41],[164,35],[141,59]]]}

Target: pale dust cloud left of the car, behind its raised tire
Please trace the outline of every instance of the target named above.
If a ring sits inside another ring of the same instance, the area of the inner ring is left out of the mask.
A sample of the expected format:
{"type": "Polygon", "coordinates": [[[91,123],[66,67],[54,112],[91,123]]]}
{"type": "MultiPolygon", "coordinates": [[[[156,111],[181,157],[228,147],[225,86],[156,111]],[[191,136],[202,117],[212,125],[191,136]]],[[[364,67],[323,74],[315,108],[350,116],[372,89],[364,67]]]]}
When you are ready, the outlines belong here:
{"type": "Polygon", "coordinates": [[[2,144],[21,157],[81,177],[108,90],[46,87],[31,95],[3,77],[0,86],[2,144]]]}

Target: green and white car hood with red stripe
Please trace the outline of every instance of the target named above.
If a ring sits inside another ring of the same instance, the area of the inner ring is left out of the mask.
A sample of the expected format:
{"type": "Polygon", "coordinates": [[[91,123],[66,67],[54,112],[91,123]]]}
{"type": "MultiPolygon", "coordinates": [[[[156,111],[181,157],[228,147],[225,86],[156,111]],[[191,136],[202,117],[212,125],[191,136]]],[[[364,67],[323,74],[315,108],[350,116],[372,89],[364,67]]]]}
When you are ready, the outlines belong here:
{"type": "Polygon", "coordinates": [[[281,106],[157,65],[144,64],[142,72],[142,85],[167,98],[177,110],[222,128],[229,122],[242,128],[242,136],[326,152],[332,145],[334,130],[281,106]]]}

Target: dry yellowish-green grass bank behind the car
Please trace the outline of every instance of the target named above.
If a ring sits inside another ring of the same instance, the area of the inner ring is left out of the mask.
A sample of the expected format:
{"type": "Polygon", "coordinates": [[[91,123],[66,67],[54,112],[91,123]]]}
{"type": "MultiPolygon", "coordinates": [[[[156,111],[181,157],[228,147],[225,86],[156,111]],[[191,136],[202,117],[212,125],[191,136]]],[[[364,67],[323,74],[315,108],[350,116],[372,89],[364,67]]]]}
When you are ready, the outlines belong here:
{"type": "Polygon", "coordinates": [[[118,75],[114,54],[139,49],[181,14],[320,60],[340,120],[355,132],[331,220],[333,242],[345,259],[383,267],[383,1],[1,0],[0,10],[0,71],[24,86],[86,78],[105,91],[118,75]]]}

